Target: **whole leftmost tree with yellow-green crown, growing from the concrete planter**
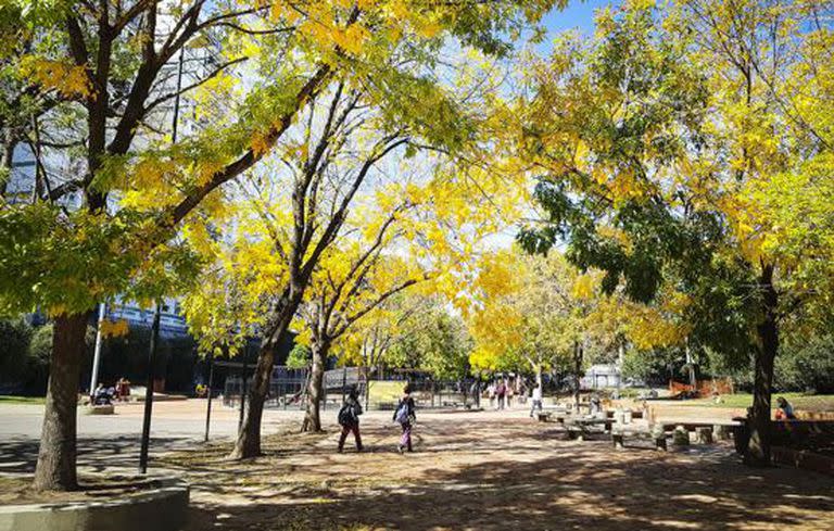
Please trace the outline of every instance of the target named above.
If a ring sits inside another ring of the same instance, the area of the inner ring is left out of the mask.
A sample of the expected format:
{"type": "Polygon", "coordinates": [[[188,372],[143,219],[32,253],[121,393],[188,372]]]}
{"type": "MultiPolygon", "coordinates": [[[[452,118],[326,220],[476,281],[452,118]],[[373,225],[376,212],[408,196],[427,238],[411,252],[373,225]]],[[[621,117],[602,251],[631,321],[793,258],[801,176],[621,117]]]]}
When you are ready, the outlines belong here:
{"type": "Polygon", "coordinates": [[[54,316],[35,484],[72,489],[78,365],[91,308],[117,293],[164,292],[168,287],[154,279],[178,265],[169,243],[180,223],[198,224],[195,208],[275,148],[334,74],[348,72],[357,85],[394,83],[375,65],[390,64],[393,50],[430,58],[450,34],[501,52],[506,45],[497,36],[515,33],[546,5],[52,0],[37,8],[4,9],[3,23],[17,17],[55,37],[36,35],[31,41],[46,46],[15,50],[7,66],[34,90],[60,94],[51,98],[60,104],[36,115],[29,132],[38,161],[34,201],[2,203],[0,306],[38,305],[54,316]],[[187,83],[172,83],[177,65],[193,59],[186,50],[217,53],[187,83]],[[254,83],[235,84],[232,71],[254,83]],[[223,90],[227,105],[198,105],[204,127],[189,136],[179,130],[170,147],[170,104],[200,89],[223,90]],[[55,141],[64,130],[70,138],[55,141]],[[72,170],[52,180],[50,161],[70,161],[72,170]]]}

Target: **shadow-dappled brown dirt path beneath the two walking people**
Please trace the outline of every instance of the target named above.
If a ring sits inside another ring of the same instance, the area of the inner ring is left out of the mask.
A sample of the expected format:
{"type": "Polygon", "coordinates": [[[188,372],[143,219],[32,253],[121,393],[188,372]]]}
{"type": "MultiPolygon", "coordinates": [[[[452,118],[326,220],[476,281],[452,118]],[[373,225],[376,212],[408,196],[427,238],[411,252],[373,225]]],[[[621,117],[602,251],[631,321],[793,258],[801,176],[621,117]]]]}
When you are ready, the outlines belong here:
{"type": "Polygon", "coordinates": [[[327,428],[269,437],[243,464],[219,445],[157,465],[192,481],[192,531],[834,529],[831,478],[745,468],[728,445],[617,452],[520,413],[427,414],[415,453],[400,455],[390,417],[372,414],[367,452],[337,454],[327,428]]]}

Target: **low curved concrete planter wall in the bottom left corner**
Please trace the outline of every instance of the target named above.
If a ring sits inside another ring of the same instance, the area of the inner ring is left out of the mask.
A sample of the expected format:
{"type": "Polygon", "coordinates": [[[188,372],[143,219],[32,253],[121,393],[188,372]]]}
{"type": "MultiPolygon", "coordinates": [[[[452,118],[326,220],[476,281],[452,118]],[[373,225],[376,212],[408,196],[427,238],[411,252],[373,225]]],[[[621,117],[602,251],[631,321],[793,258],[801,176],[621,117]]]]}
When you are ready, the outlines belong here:
{"type": "Polygon", "coordinates": [[[178,531],[188,518],[185,481],[121,500],[0,506],[0,531],[178,531]]]}

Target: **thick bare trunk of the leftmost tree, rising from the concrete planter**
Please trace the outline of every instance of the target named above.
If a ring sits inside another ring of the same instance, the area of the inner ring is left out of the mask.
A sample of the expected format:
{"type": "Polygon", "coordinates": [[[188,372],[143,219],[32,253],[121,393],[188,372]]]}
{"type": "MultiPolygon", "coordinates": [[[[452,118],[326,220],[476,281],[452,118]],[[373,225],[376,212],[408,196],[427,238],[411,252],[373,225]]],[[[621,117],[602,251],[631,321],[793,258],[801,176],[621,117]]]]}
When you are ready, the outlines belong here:
{"type": "Polygon", "coordinates": [[[35,468],[34,488],[39,491],[71,491],[78,486],[76,404],[86,331],[87,314],[55,319],[43,429],[35,468]]]}

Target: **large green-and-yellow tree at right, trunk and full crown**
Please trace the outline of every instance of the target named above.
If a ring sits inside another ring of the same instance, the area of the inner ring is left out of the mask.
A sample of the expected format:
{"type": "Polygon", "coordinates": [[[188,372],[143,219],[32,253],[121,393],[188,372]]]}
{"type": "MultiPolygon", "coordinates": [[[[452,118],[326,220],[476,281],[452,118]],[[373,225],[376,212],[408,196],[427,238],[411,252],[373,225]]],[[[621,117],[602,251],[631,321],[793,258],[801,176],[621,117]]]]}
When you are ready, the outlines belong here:
{"type": "Polygon", "coordinates": [[[807,194],[804,218],[825,210],[827,9],[697,0],[604,12],[596,41],[567,41],[536,71],[528,115],[546,216],[521,241],[567,240],[574,264],[604,269],[609,291],[622,281],[637,300],[671,282],[691,298],[694,332],[722,332],[705,343],[751,350],[756,464],[770,458],[780,326],[831,292],[831,224],[775,201],[792,188],[807,194]]]}

